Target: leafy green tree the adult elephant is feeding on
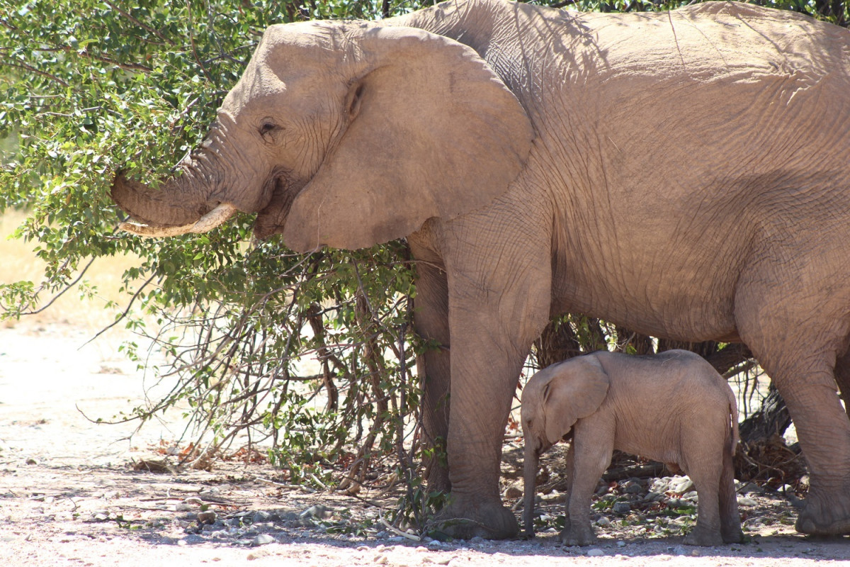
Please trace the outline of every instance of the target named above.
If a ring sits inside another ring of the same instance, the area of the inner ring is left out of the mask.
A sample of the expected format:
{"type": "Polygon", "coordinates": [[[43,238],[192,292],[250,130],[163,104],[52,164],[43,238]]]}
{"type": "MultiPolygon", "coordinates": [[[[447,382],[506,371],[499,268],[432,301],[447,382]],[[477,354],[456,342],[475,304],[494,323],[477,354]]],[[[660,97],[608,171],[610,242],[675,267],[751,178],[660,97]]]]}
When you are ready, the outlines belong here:
{"type": "MultiPolygon", "coordinates": [[[[37,242],[47,264],[42,282],[2,286],[2,316],[43,309],[74,284],[90,295],[90,259],[132,252],[139,266],[124,274],[121,323],[170,354],[164,370],[178,374],[171,393],[136,417],[187,400],[199,438],[212,432],[207,448],[240,430],[270,436],[272,458],[293,480],[326,482],[326,465],[346,462],[353,446],[361,461],[403,446],[418,410],[411,369],[424,348],[411,343],[413,267],[403,242],[299,257],[280,241],[252,242],[251,218],[210,235],[145,241],[116,232],[108,198],[118,170],[156,164],[144,172],[156,179],[201,141],[266,26],[382,9],[0,2],[0,133],[18,140],[3,158],[0,211],[26,209],[16,235],[37,242]],[[299,374],[299,360],[314,354],[320,374],[299,374]],[[393,420],[399,427],[386,427],[393,420]]],[[[137,349],[127,344],[144,356],[137,349]]]]}

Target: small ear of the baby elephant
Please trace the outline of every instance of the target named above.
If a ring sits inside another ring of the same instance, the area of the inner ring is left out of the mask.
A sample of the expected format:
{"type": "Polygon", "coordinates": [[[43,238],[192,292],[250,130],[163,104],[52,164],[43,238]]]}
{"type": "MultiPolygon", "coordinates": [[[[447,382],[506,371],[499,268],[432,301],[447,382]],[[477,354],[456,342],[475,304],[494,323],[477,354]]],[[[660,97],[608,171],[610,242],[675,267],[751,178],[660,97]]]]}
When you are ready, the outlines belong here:
{"type": "Polygon", "coordinates": [[[591,356],[566,360],[550,367],[553,372],[543,390],[546,437],[557,443],[575,422],[597,411],[608,394],[610,380],[591,356]]]}

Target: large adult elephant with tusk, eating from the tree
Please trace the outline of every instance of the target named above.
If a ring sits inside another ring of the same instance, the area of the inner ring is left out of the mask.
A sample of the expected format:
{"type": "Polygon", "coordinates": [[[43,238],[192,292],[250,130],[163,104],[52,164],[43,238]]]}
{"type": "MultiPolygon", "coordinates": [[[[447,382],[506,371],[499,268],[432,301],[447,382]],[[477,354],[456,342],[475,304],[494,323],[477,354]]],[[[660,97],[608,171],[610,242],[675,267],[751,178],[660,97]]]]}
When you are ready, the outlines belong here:
{"type": "MultiPolygon", "coordinates": [[[[512,536],[502,432],[530,344],[585,313],[744,341],[811,469],[797,529],[850,532],[850,32],[705,3],[577,14],[452,0],[272,26],[182,174],[121,177],[128,230],[234,209],[289,247],[406,236],[428,433],[457,535],[512,536]],[[442,403],[450,389],[450,406],[442,403]]],[[[199,220],[200,219],[200,220],[199,220]]]]}

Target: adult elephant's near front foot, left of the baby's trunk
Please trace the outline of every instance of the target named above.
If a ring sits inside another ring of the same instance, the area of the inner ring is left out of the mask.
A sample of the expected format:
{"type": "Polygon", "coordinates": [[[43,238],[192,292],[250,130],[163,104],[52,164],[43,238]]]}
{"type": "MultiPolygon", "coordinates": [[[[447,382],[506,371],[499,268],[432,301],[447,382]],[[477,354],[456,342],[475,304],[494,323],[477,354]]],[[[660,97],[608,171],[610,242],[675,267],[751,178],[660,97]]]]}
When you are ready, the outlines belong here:
{"type": "Polygon", "coordinates": [[[519,534],[519,523],[513,512],[501,502],[467,502],[456,499],[439,511],[429,522],[430,530],[443,532],[459,540],[483,537],[504,540],[519,534]]]}

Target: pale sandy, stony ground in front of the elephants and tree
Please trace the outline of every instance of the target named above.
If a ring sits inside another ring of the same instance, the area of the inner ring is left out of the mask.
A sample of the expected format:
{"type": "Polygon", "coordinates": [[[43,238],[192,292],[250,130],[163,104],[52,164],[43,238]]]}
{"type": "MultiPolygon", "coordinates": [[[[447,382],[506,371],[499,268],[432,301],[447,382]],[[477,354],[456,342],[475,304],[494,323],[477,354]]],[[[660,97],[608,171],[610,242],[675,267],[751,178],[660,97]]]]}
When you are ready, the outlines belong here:
{"type": "Polygon", "coordinates": [[[754,505],[742,506],[751,535],[742,545],[683,547],[680,536],[652,536],[642,533],[645,524],[622,521],[600,527],[598,545],[590,548],[561,547],[554,532],[533,541],[440,543],[388,532],[378,510],[360,501],[275,485],[269,467],[134,470],[132,462],[156,456],[161,441],[178,437],[178,412],[132,440],[126,438],[133,425],[98,425],[83,417],[79,410],[111,418],[138,404],[143,393],[141,374],[116,353],[116,343],[79,349],[89,337],[63,324],[0,327],[0,565],[781,566],[850,560],[847,539],[796,535],[789,524],[793,508],[778,495],[753,496],[754,505]],[[365,528],[337,533],[352,525],[365,528]]]}

